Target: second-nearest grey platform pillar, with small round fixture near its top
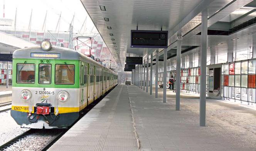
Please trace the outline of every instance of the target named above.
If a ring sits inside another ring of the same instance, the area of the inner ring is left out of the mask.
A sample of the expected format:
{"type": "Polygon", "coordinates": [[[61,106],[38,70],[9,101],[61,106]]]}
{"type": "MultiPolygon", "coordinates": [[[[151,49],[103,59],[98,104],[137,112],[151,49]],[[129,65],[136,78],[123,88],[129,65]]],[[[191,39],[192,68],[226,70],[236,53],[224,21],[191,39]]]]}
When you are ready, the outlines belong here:
{"type": "MultiPolygon", "coordinates": [[[[177,36],[181,36],[181,31],[178,32],[177,36]]],[[[180,59],[181,59],[181,40],[177,40],[176,107],[175,107],[176,111],[180,110],[180,59]]]]}

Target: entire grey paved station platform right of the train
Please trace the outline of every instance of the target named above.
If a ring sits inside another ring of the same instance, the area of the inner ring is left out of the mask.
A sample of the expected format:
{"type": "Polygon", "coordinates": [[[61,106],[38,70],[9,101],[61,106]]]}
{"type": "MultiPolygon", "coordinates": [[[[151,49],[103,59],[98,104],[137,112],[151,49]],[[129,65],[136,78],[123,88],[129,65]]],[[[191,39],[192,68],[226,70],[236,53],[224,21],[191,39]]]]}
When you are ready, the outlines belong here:
{"type": "Polygon", "coordinates": [[[199,99],[162,98],[118,85],[49,151],[253,151],[255,110],[207,100],[199,126],[199,99]]]}

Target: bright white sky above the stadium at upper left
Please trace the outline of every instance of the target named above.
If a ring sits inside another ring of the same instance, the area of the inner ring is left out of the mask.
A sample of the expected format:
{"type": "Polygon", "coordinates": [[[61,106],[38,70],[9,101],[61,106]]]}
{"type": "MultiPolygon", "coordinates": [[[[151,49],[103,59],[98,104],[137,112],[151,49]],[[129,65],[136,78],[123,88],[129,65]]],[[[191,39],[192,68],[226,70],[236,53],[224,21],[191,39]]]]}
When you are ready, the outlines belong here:
{"type": "MultiPolygon", "coordinates": [[[[15,20],[17,8],[17,29],[29,29],[29,20],[32,11],[32,30],[42,30],[47,12],[46,29],[56,30],[61,13],[60,31],[68,31],[69,23],[74,17],[74,32],[79,32],[88,15],[80,0],[0,0],[0,18],[3,18],[3,4],[5,3],[5,18],[15,20]]],[[[88,31],[94,27],[89,16],[86,19],[88,31]]],[[[97,32],[96,28],[93,32],[97,32]]]]}

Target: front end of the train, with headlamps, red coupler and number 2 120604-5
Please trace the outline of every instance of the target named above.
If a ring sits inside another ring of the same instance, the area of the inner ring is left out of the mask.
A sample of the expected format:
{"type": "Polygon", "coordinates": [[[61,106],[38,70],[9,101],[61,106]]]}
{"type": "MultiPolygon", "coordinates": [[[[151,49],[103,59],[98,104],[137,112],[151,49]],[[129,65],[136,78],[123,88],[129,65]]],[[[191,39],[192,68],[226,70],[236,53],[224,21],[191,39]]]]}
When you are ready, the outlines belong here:
{"type": "Polygon", "coordinates": [[[22,128],[64,129],[79,118],[75,57],[75,51],[52,47],[50,41],[13,53],[11,116],[22,128]]]}

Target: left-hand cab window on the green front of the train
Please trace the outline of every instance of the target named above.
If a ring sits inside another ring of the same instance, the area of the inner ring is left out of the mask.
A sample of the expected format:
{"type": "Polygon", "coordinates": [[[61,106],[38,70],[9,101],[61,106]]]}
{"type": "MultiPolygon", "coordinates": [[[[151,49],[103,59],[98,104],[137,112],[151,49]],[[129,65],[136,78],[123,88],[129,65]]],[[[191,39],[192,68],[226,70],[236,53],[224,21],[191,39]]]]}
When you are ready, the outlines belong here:
{"type": "Polygon", "coordinates": [[[17,64],[17,83],[35,83],[35,64],[17,64]]]}

